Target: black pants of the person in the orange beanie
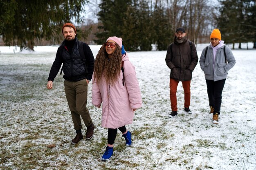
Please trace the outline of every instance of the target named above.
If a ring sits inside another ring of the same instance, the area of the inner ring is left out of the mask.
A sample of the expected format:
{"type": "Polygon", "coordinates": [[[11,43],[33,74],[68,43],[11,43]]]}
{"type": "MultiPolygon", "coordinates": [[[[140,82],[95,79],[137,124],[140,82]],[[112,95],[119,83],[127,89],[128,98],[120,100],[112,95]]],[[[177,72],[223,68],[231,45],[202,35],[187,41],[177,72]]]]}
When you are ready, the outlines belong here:
{"type": "Polygon", "coordinates": [[[218,113],[218,115],[220,115],[222,90],[224,88],[225,81],[226,79],[218,80],[216,82],[209,79],[206,80],[209,105],[214,108],[213,113],[218,113]]]}

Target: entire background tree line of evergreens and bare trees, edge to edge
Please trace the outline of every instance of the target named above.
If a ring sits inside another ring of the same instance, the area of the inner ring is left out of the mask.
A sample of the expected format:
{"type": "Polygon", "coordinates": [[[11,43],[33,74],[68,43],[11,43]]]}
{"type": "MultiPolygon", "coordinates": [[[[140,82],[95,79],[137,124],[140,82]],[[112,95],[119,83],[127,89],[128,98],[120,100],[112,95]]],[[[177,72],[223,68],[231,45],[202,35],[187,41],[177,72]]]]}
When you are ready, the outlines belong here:
{"type": "MultiPolygon", "coordinates": [[[[6,45],[28,46],[35,41],[63,40],[65,22],[83,22],[88,0],[0,1],[0,38],[6,45]]],[[[80,40],[93,37],[103,44],[109,36],[123,38],[127,51],[166,50],[177,27],[184,27],[189,40],[209,42],[218,28],[225,43],[256,42],[255,0],[101,0],[98,23],[77,29],[80,40]],[[93,26],[97,28],[92,30],[93,26]],[[95,34],[92,36],[92,34],[95,34]]],[[[240,48],[240,46],[239,46],[240,48]]]]}

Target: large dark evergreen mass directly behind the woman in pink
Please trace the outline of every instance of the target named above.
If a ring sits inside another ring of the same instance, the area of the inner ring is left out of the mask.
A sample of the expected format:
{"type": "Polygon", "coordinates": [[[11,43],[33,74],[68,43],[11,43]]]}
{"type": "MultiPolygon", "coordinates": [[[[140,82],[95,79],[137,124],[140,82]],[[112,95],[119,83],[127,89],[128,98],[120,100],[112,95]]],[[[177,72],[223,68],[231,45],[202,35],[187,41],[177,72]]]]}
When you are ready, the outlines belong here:
{"type": "Polygon", "coordinates": [[[150,10],[146,0],[102,0],[99,7],[98,44],[117,36],[123,39],[127,51],[152,49],[150,10]]]}

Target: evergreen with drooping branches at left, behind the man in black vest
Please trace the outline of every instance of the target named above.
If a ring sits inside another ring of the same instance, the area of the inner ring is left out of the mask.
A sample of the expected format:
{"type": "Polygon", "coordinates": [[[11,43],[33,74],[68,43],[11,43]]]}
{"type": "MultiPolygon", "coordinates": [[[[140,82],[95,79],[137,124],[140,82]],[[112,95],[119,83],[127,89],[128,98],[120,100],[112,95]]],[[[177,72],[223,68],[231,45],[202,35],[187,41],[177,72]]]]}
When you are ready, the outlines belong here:
{"type": "Polygon", "coordinates": [[[1,0],[0,35],[6,45],[33,49],[35,39],[59,41],[61,26],[80,13],[87,0],[1,0]]]}

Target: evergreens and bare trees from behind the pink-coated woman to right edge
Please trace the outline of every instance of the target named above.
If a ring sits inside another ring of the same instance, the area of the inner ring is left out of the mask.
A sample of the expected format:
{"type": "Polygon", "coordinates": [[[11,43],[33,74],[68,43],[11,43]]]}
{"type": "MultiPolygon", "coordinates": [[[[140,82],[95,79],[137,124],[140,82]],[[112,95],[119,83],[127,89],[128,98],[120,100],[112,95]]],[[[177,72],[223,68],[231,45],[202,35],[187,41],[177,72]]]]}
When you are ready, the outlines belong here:
{"type": "Polygon", "coordinates": [[[226,43],[256,42],[255,0],[102,0],[99,4],[98,44],[122,37],[129,51],[148,51],[155,44],[166,50],[177,27],[189,40],[209,42],[214,28],[226,43]]]}

